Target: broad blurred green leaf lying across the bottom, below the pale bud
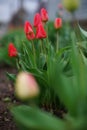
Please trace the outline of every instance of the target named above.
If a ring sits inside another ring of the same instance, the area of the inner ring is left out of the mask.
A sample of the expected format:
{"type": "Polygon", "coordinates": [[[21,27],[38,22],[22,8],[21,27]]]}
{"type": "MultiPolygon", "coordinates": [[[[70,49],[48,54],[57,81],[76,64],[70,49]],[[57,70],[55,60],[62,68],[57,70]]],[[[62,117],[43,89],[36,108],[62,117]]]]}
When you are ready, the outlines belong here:
{"type": "Polygon", "coordinates": [[[11,109],[21,130],[65,130],[65,123],[38,108],[18,106],[11,109]]]}

